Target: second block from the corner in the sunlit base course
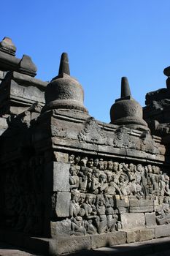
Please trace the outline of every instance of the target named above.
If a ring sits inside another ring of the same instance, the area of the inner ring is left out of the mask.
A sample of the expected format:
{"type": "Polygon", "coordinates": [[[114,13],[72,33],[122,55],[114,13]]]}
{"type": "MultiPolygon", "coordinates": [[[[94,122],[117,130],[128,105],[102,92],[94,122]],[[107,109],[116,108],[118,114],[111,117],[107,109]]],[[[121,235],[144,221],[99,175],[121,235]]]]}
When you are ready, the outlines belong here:
{"type": "Polygon", "coordinates": [[[91,236],[91,243],[93,249],[103,246],[125,244],[125,241],[126,233],[123,231],[91,236]]]}

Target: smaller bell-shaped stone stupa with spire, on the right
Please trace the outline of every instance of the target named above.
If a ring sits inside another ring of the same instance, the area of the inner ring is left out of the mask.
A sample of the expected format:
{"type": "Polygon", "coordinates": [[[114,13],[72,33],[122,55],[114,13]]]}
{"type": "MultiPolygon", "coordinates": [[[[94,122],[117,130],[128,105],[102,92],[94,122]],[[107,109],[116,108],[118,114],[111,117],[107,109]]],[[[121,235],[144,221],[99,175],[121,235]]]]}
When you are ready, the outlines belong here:
{"type": "Polygon", "coordinates": [[[123,125],[131,129],[149,130],[143,119],[143,110],[139,102],[131,97],[128,78],[121,81],[121,97],[115,100],[110,109],[111,124],[123,125]]]}

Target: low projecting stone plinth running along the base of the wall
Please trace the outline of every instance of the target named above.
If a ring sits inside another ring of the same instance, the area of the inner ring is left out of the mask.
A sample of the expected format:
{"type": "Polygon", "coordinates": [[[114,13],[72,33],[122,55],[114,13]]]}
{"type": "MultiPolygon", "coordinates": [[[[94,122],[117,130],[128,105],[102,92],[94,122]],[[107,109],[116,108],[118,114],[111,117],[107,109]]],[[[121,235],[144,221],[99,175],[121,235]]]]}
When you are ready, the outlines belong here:
{"type": "MultiPolygon", "coordinates": [[[[96,252],[97,249],[97,252],[102,252],[106,246],[114,246],[114,248],[116,246],[117,249],[113,249],[112,247],[112,252],[114,253],[119,249],[122,252],[123,248],[134,249],[134,244],[140,245],[142,242],[144,242],[143,244],[155,244],[158,241],[164,241],[158,238],[165,236],[170,236],[170,225],[117,231],[102,235],[58,236],[56,238],[36,238],[28,237],[23,233],[7,230],[0,231],[0,241],[20,248],[26,248],[39,255],[65,255],[70,253],[77,255],[80,251],[81,255],[84,251],[91,254],[91,250],[95,250],[96,252]]],[[[166,238],[165,241],[170,241],[170,238],[166,238]]],[[[110,249],[107,249],[107,251],[110,252],[110,249]]]]}

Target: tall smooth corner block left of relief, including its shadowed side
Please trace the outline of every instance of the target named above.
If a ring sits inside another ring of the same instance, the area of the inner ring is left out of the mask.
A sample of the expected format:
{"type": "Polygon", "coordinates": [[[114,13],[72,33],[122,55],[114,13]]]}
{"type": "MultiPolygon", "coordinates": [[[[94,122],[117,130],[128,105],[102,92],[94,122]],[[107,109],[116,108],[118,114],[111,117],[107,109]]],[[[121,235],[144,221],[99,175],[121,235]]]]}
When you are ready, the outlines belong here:
{"type": "Polygon", "coordinates": [[[45,189],[53,192],[69,192],[69,167],[65,162],[50,162],[45,167],[45,189]]]}

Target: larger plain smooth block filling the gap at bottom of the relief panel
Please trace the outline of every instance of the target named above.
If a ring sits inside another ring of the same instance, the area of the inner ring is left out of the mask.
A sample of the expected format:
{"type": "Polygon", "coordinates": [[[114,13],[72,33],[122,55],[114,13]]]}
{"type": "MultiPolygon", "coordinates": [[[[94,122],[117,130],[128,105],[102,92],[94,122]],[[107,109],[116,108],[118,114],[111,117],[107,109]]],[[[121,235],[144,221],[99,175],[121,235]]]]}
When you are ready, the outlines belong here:
{"type": "Polygon", "coordinates": [[[144,227],[144,214],[120,214],[123,229],[131,229],[136,227],[144,227]]]}

